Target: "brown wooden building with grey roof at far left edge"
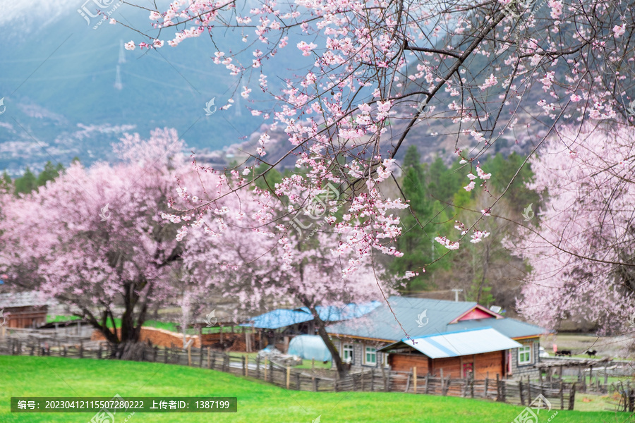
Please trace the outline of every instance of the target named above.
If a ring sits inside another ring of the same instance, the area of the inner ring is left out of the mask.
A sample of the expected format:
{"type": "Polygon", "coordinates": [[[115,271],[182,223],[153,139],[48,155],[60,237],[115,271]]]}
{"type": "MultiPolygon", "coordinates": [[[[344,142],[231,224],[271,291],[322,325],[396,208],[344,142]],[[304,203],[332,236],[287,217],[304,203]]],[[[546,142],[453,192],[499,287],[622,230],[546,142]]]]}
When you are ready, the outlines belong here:
{"type": "Polygon", "coordinates": [[[0,324],[6,328],[42,326],[47,323],[48,309],[46,298],[37,291],[0,294],[0,324]]]}

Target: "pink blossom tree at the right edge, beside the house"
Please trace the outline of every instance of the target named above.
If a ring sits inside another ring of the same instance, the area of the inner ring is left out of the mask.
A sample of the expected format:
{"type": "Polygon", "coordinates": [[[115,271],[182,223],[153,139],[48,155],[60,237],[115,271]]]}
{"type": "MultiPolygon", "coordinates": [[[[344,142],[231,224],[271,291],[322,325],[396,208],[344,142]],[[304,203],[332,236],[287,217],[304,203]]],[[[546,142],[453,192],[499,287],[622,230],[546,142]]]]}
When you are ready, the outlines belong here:
{"type": "Polygon", "coordinates": [[[634,135],[626,126],[569,128],[532,159],[532,188],[545,207],[537,228],[526,223],[520,240],[508,240],[531,265],[519,302],[528,319],[555,328],[584,317],[603,333],[627,329],[635,312],[634,135]]]}

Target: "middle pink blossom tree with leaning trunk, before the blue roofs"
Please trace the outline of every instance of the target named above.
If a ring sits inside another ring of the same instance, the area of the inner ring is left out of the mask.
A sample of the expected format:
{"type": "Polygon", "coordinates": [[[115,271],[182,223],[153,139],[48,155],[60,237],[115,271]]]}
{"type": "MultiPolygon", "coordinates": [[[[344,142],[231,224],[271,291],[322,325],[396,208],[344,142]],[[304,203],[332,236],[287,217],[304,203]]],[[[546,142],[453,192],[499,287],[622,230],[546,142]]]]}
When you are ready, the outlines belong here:
{"type": "MultiPolygon", "coordinates": [[[[204,168],[199,171],[210,174],[204,168]]],[[[335,367],[344,374],[346,368],[326,329],[336,317],[318,313],[318,307],[352,313],[347,307],[351,302],[361,304],[394,293],[394,281],[385,280],[382,266],[373,264],[373,255],[347,249],[344,235],[334,231],[338,193],[332,188],[315,190],[319,194],[309,204],[309,212],[289,223],[294,207],[282,204],[291,200],[279,201],[274,192],[259,188],[234,190],[233,183],[242,183],[241,177],[234,177],[212,185],[198,178],[189,183],[181,180],[189,189],[179,188],[171,206],[184,212],[164,218],[192,222],[179,230],[179,240],[188,245],[184,267],[207,275],[208,289],[236,298],[236,317],[279,303],[307,307],[335,367]],[[227,192],[231,195],[223,196],[227,192]],[[212,209],[208,204],[218,204],[211,201],[213,196],[223,197],[224,206],[212,209]],[[292,231],[286,229],[289,224],[292,231]]]]}

